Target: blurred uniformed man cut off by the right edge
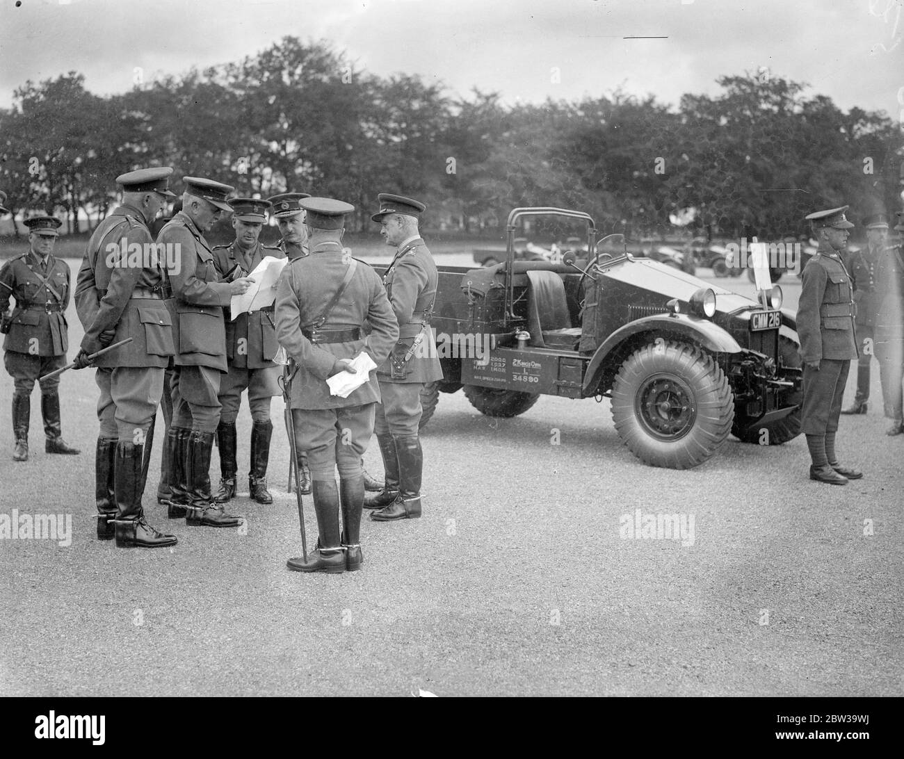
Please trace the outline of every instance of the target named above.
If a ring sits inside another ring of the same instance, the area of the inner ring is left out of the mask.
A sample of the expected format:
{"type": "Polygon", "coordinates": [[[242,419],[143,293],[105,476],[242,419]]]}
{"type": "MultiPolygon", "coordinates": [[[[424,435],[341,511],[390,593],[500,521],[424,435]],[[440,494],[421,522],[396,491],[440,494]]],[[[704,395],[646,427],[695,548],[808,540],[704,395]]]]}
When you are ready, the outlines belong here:
{"type": "MultiPolygon", "coordinates": [[[[895,230],[904,231],[904,211],[898,211],[895,230]]],[[[901,380],[904,379],[904,260],[900,241],[885,246],[877,266],[879,308],[876,315],[876,358],[882,379],[885,416],[891,424],[886,435],[904,433],[901,380]]]]}

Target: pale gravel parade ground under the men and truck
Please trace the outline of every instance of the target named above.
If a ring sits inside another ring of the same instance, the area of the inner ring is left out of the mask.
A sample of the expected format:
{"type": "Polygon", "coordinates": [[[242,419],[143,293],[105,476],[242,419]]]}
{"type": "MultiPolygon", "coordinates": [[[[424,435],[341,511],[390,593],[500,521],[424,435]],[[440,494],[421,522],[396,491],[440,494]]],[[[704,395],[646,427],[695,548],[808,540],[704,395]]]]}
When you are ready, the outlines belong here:
{"type": "MultiPolygon", "coordinates": [[[[753,293],[746,276],[708,281],[753,293]]],[[[779,284],[795,309],[799,281],[779,284]]],[[[71,359],[82,330],[67,317],[71,359]]],[[[875,363],[870,413],[842,417],[842,462],[864,472],[845,487],[807,479],[803,436],[730,438],[695,469],[655,469],[621,444],[605,399],[496,419],[442,395],[423,431],[423,518],[365,512],[363,570],[337,576],[286,568],[301,540],[281,398],[270,506],[247,498],[243,401],[231,511],[247,529],[166,520],[158,417],[145,509],[179,543],[142,550],[94,535],[94,370],[61,381],[79,456],[43,453],[35,388],[32,454],[15,464],[12,391],[4,374],[0,515],[71,515],[72,534],[0,540],[2,696],[904,694],[904,436],[884,435],[875,363]],[[626,535],[646,514],[678,514],[683,539],[626,535]]],[[[375,440],[365,461],[381,473],[375,440]]]]}

